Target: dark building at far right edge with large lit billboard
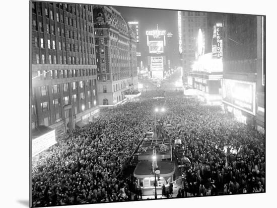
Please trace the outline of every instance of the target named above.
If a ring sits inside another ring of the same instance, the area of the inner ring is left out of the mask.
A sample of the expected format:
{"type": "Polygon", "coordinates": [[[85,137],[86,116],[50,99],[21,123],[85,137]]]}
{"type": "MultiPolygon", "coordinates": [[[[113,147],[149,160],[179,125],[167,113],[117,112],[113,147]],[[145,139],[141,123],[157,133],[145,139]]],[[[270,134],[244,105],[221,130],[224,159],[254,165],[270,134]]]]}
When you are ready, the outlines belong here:
{"type": "Polygon", "coordinates": [[[226,14],[223,40],[224,108],[264,132],[264,17],[226,14]]]}

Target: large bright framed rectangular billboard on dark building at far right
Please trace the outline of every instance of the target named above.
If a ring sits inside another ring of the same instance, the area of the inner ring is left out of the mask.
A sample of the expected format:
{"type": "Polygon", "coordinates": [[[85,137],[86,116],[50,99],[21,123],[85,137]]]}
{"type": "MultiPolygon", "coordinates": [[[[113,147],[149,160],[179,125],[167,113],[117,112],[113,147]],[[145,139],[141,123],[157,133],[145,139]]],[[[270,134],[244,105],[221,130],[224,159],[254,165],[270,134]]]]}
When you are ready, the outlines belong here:
{"type": "Polygon", "coordinates": [[[223,79],[222,101],[255,116],[256,83],[223,79]]]}

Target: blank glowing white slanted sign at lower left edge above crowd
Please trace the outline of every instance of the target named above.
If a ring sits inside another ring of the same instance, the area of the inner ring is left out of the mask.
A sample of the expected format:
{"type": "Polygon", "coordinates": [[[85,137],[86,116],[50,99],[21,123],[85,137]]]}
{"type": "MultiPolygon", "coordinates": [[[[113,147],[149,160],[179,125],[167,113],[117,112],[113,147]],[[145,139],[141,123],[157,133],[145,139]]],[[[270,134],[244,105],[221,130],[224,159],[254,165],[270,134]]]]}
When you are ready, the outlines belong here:
{"type": "Polygon", "coordinates": [[[32,157],[56,144],[55,130],[32,140],[32,157]]]}

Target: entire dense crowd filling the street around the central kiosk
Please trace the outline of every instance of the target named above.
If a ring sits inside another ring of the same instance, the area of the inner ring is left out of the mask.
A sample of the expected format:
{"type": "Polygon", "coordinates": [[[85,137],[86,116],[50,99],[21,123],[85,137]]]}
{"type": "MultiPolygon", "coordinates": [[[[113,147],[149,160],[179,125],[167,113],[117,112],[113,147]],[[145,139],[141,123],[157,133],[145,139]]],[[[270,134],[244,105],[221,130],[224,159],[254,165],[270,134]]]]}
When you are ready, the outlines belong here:
{"type": "Polygon", "coordinates": [[[58,138],[32,167],[33,206],[136,199],[133,177],[120,174],[145,133],[155,126],[154,108],[166,108],[191,161],[180,196],[262,192],[265,189],[264,135],[236,122],[219,107],[204,106],[179,93],[164,101],[149,91],[139,101],[101,110],[89,125],[58,138]],[[226,147],[228,151],[225,152],[226,147]],[[230,149],[236,149],[231,154],[230,149]]]}

